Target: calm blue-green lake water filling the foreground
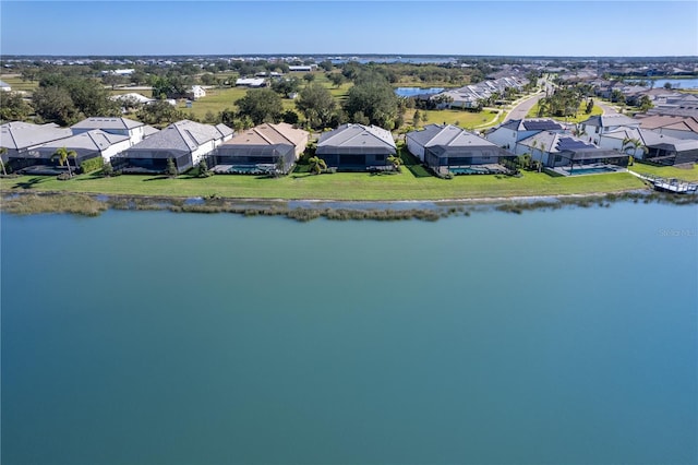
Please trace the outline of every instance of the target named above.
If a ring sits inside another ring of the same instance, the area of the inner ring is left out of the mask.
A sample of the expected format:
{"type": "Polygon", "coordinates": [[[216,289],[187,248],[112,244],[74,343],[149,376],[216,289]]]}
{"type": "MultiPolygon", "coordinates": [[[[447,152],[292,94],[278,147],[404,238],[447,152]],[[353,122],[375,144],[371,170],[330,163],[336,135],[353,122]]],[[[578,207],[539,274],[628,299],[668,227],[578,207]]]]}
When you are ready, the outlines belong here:
{"type": "Polygon", "coordinates": [[[695,207],[0,219],[4,465],[698,461],[695,207]]]}

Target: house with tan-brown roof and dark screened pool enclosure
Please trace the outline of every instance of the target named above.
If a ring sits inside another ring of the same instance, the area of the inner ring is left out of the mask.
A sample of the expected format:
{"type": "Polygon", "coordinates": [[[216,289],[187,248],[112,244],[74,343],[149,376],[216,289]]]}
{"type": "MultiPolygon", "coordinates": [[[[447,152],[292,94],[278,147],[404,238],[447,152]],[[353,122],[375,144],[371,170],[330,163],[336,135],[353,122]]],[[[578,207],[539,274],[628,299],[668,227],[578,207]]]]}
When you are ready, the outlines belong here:
{"type": "Polygon", "coordinates": [[[309,132],[291,124],[264,123],[236,134],[212,154],[209,166],[216,172],[248,174],[279,169],[288,172],[305,151],[309,132]]]}

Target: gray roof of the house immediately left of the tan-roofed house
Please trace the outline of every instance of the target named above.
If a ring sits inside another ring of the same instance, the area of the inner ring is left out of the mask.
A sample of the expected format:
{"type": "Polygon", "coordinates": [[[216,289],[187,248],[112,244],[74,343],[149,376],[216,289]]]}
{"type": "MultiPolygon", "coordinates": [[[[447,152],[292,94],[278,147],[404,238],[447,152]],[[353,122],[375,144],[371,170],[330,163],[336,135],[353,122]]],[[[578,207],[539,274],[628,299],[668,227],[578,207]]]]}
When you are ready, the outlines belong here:
{"type": "Polygon", "coordinates": [[[222,140],[222,138],[224,134],[217,127],[185,119],[144,139],[129,148],[129,152],[140,150],[194,152],[206,142],[222,140]]]}

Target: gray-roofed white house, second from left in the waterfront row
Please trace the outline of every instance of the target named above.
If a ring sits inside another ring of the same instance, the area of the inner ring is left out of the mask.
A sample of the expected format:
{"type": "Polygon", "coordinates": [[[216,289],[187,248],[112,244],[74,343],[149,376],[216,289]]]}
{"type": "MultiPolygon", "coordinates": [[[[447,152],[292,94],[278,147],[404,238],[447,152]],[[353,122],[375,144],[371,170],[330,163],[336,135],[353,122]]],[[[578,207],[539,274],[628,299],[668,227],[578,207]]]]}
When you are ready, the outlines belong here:
{"type": "Polygon", "coordinates": [[[47,142],[33,151],[37,158],[37,165],[56,165],[53,159],[56,151],[65,147],[75,152],[75,158],[70,158],[69,163],[80,166],[83,162],[101,156],[105,162],[110,162],[111,157],[131,146],[128,135],[111,134],[100,129],[80,132],[73,136],[58,141],[47,142]]]}

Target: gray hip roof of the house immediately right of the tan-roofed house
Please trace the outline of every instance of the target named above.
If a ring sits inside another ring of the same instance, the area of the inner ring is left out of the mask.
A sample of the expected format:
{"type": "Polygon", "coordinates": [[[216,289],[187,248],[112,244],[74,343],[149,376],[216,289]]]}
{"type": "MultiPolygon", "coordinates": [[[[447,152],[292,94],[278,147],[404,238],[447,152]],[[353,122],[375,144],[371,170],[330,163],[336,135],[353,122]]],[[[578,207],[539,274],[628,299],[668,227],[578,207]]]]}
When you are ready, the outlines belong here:
{"type": "Polygon", "coordinates": [[[395,154],[393,134],[377,126],[347,123],[323,133],[317,141],[318,155],[368,152],[395,154]]]}

